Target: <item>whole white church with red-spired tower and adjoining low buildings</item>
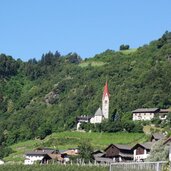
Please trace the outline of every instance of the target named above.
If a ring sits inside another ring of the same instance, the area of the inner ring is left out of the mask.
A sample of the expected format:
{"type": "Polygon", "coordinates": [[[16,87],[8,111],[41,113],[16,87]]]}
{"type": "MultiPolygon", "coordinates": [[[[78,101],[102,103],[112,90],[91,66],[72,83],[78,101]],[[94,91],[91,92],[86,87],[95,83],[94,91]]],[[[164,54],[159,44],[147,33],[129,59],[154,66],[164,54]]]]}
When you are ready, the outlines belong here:
{"type": "Polygon", "coordinates": [[[103,95],[102,95],[102,109],[99,107],[97,111],[95,112],[94,116],[80,116],[77,117],[77,130],[79,130],[81,123],[102,123],[104,119],[109,118],[109,89],[108,89],[108,83],[106,81],[106,84],[103,89],[103,95]]]}

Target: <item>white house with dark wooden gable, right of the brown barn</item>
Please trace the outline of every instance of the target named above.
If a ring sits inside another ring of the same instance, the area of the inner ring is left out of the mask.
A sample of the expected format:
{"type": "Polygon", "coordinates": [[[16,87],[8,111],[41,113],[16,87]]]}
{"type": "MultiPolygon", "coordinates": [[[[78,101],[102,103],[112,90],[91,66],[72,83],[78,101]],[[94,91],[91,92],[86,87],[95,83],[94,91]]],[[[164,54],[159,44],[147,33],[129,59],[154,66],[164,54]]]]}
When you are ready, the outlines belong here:
{"type": "Polygon", "coordinates": [[[132,147],[134,153],[134,161],[144,161],[149,156],[150,150],[154,142],[146,142],[144,144],[136,144],[132,147]]]}

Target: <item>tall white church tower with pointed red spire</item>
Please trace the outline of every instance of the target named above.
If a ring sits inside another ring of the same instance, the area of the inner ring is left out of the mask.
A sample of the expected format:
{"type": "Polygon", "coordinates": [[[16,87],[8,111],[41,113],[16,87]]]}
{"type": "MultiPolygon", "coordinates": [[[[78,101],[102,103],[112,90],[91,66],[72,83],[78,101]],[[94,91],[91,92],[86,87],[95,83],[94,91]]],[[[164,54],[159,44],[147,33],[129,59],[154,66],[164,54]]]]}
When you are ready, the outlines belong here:
{"type": "Polygon", "coordinates": [[[102,112],[105,119],[109,118],[109,90],[108,83],[104,86],[103,96],[102,96],[102,112]]]}

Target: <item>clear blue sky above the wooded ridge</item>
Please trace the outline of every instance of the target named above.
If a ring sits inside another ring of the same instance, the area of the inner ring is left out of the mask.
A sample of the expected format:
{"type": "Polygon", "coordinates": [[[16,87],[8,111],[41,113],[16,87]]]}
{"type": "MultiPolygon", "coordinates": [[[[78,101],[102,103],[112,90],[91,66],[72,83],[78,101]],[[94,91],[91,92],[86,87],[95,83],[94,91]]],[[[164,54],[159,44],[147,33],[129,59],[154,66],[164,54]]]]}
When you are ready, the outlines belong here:
{"type": "Polygon", "coordinates": [[[40,59],[58,50],[93,57],[171,31],[170,0],[0,0],[0,53],[40,59]]]}

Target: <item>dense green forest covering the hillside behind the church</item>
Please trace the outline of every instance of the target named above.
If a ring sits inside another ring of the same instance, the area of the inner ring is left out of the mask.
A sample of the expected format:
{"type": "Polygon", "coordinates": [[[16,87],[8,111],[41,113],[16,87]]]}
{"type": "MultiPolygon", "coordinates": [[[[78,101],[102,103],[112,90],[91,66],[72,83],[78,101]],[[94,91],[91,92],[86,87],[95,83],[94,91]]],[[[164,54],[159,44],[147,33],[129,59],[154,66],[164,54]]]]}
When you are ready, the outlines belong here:
{"type": "Polygon", "coordinates": [[[74,129],[77,116],[94,115],[101,106],[106,80],[110,121],[128,120],[140,107],[169,108],[171,32],[133,52],[106,50],[84,60],[58,51],[27,62],[1,54],[0,143],[74,129]]]}

